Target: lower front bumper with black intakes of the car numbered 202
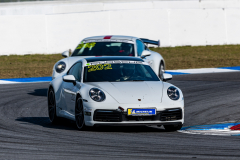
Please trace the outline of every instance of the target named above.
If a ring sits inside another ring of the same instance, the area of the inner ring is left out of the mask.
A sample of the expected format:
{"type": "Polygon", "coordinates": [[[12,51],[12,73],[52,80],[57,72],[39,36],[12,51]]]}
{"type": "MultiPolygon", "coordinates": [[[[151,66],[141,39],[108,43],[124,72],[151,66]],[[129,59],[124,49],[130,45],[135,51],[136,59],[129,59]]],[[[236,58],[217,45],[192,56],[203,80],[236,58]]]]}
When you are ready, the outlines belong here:
{"type": "Polygon", "coordinates": [[[152,116],[128,116],[126,112],[97,109],[89,116],[85,113],[88,126],[136,126],[136,125],[179,125],[183,124],[181,108],[157,111],[152,116]],[[91,117],[91,118],[90,118],[91,117]]]}

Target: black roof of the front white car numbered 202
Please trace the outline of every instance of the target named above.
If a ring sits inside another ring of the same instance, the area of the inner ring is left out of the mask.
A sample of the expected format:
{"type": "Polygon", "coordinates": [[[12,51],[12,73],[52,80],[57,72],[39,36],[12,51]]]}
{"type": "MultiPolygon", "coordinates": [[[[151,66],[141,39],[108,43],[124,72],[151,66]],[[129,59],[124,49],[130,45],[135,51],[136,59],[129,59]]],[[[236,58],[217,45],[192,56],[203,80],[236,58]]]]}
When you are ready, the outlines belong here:
{"type": "Polygon", "coordinates": [[[85,58],[87,62],[95,62],[95,61],[115,61],[115,60],[126,60],[126,61],[142,61],[141,58],[137,57],[126,57],[126,56],[109,56],[109,57],[90,57],[85,58]]]}

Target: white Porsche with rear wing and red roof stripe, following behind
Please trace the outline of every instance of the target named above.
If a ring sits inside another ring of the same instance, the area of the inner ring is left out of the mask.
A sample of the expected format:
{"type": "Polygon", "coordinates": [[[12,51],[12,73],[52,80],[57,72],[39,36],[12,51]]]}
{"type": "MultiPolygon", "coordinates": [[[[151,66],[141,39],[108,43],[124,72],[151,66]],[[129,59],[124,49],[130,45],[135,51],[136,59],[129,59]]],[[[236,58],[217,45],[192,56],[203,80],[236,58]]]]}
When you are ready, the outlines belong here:
{"type": "Polygon", "coordinates": [[[69,52],[62,53],[65,59],[58,61],[53,67],[52,79],[64,75],[69,67],[82,58],[99,56],[140,57],[147,62],[162,79],[165,70],[163,57],[148,49],[145,44],[160,46],[160,41],[130,36],[95,36],[83,39],[69,57],[69,52]]]}

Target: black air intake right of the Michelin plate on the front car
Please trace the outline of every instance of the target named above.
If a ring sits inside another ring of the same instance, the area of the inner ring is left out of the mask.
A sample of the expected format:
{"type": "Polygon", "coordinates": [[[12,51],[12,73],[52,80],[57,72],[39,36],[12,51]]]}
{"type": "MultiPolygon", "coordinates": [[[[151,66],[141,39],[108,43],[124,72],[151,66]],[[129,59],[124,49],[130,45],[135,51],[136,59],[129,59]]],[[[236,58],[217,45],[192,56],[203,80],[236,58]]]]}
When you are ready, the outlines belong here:
{"type": "Polygon", "coordinates": [[[161,111],[160,121],[174,121],[182,119],[182,109],[168,109],[161,111]]]}

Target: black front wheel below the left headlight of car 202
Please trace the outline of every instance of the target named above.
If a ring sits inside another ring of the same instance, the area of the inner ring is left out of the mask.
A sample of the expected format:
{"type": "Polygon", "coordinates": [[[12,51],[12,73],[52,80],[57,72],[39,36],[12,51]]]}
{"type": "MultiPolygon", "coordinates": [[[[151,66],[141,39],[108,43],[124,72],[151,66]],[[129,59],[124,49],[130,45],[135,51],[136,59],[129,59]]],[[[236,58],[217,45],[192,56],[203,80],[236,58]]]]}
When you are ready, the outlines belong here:
{"type": "Polygon", "coordinates": [[[76,126],[79,130],[85,130],[87,128],[84,122],[83,102],[80,97],[77,98],[75,107],[75,120],[76,126]]]}

